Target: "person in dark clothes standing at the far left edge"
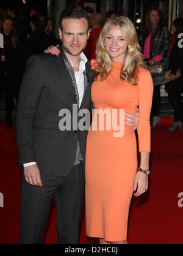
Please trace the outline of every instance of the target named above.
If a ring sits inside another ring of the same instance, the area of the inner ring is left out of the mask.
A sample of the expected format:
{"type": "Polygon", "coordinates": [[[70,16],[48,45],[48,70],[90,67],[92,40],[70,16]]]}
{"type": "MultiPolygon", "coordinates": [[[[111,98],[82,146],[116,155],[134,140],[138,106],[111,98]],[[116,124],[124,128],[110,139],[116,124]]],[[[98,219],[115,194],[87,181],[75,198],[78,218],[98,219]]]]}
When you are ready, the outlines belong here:
{"type": "Polygon", "coordinates": [[[13,18],[5,15],[0,23],[0,32],[4,36],[4,48],[0,48],[0,76],[2,91],[5,94],[5,114],[8,128],[13,127],[13,97],[18,98],[18,35],[15,31],[13,18]]]}

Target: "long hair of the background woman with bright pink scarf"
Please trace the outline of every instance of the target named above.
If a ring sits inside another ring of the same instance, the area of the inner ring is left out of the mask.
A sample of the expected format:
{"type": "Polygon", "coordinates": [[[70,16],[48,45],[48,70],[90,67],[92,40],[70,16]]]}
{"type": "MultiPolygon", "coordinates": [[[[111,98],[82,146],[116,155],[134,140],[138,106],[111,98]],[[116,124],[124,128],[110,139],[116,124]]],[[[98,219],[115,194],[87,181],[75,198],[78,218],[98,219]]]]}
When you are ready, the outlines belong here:
{"type": "Polygon", "coordinates": [[[162,31],[163,27],[165,26],[165,19],[163,17],[162,10],[160,10],[157,7],[151,7],[150,9],[148,9],[145,16],[145,26],[143,27],[143,35],[145,37],[148,37],[149,31],[152,29],[152,25],[150,21],[150,13],[152,10],[156,10],[159,13],[159,23],[157,24],[157,33],[159,34],[162,31]]]}

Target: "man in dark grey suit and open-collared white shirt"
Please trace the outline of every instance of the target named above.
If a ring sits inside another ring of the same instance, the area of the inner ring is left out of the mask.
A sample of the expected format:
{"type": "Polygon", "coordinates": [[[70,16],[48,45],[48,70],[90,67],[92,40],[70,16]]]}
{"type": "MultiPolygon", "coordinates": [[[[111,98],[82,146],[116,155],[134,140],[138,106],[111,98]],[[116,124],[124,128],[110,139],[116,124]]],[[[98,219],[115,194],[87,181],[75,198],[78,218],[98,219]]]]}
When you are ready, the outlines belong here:
{"type": "MultiPolygon", "coordinates": [[[[21,179],[21,232],[18,243],[42,243],[54,197],[57,243],[78,243],[84,202],[87,130],[59,130],[59,111],[89,109],[91,67],[84,56],[89,18],[79,7],[60,15],[60,55],[30,57],[16,113],[21,179]]],[[[130,120],[129,120],[130,121],[130,120]]],[[[74,125],[75,126],[75,125],[74,125]]]]}

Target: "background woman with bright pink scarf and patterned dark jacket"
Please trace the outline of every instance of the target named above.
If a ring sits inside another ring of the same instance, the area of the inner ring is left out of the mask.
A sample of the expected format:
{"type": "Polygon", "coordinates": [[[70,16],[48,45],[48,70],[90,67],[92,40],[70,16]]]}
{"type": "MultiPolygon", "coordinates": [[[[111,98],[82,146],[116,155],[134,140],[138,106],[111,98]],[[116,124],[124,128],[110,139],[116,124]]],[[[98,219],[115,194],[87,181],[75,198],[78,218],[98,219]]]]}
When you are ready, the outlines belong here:
{"type": "Polygon", "coordinates": [[[145,26],[139,37],[142,53],[149,64],[153,66],[156,61],[162,65],[160,74],[152,74],[154,92],[151,110],[151,127],[160,124],[160,86],[165,84],[165,72],[168,66],[168,52],[170,50],[170,32],[164,25],[163,14],[157,7],[151,7],[146,12],[145,26]]]}

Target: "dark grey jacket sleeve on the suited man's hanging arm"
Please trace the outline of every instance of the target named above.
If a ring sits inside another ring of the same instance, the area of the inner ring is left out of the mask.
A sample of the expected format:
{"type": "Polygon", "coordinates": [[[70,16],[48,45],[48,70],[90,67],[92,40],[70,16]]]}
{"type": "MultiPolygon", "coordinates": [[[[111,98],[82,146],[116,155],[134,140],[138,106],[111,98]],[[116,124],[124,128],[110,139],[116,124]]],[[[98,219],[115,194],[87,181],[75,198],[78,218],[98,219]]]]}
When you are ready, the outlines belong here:
{"type": "Polygon", "coordinates": [[[20,88],[16,111],[16,145],[18,147],[18,165],[35,162],[33,142],[34,118],[43,86],[43,67],[38,56],[27,61],[26,71],[20,88]]]}

